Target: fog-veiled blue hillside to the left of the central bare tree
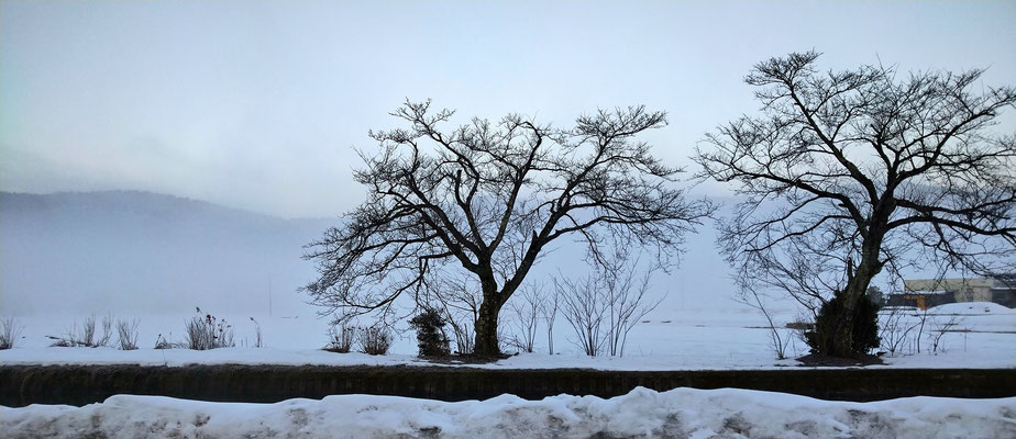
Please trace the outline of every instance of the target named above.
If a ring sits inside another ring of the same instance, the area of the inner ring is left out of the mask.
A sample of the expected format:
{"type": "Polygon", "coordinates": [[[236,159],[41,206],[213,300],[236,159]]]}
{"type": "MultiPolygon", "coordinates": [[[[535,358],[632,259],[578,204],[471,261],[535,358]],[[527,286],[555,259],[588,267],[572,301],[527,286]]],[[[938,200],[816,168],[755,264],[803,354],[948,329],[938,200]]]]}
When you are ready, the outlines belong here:
{"type": "Polygon", "coordinates": [[[305,311],[301,246],[338,219],[284,219],[136,191],[0,192],[0,314],[305,311]]]}

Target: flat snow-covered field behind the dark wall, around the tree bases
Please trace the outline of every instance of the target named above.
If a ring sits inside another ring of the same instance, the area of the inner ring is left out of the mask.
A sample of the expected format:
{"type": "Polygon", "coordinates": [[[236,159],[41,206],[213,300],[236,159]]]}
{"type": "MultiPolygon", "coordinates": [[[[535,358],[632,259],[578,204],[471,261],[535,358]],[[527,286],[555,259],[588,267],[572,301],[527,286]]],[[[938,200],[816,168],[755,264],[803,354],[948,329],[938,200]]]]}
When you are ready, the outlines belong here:
{"type": "MultiPolygon", "coordinates": [[[[925,318],[925,327],[914,327],[905,335],[899,350],[884,360],[891,368],[1016,368],[1016,311],[990,303],[949,304],[932,308],[924,316],[916,309],[901,309],[901,325],[912,327],[925,318]],[[945,323],[954,323],[932,349],[931,336],[945,323]],[[920,333],[919,333],[920,331],[920,333]],[[921,334],[920,353],[916,338],[921,334]]],[[[312,315],[255,316],[262,326],[266,348],[250,347],[255,338],[250,316],[225,315],[234,326],[238,347],[192,351],[153,349],[158,335],[170,341],[183,339],[185,320],[191,315],[119,316],[140,318],[141,349],[54,348],[47,335],[60,336],[86,316],[18,317],[24,326],[14,349],[0,351],[0,364],[157,364],[190,363],[274,363],[274,364],[429,364],[416,358],[412,333],[399,336],[390,354],[332,353],[320,350],[325,345],[325,322],[312,315]],[[244,347],[246,346],[246,347],[244,347]]],[[[113,316],[115,319],[118,316],[113,316]]],[[[777,322],[794,319],[791,312],[777,314],[777,322]]],[[[101,319],[101,315],[100,315],[101,319]]],[[[775,359],[771,330],[755,312],[746,308],[725,311],[658,311],[648,323],[634,327],[623,357],[589,358],[568,339],[568,328],[555,326],[554,345],[559,353],[546,353],[545,328],[541,326],[533,353],[521,353],[483,368],[593,368],[605,370],[711,370],[772,369],[796,367],[794,360],[775,359]]],[[[791,330],[781,335],[791,340],[786,353],[797,357],[807,347],[791,330]]],[[[113,337],[115,340],[115,336],[113,337]]]]}

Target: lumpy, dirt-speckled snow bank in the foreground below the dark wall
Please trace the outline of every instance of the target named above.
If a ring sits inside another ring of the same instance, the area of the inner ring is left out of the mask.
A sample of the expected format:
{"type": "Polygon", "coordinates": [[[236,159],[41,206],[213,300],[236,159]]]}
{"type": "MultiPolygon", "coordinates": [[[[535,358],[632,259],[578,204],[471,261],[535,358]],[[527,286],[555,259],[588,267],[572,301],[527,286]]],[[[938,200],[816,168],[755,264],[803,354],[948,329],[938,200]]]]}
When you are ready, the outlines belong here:
{"type": "Polygon", "coordinates": [[[827,402],[781,393],[676,389],[601,399],[501,395],[444,403],[335,395],[277,404],[117,395],[85,407],[0,407],[10,438],[240,437],[1016,437],[1016,397],[827,402]]]}

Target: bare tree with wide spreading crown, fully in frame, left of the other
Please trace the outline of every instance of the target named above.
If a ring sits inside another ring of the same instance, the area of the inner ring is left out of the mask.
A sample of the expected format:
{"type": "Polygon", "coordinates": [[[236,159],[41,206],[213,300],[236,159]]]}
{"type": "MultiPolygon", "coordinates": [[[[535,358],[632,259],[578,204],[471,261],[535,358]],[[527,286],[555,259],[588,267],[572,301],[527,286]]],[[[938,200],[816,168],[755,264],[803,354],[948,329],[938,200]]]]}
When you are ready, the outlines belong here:
{"type": "Polygon", "coordinates": [[[430,102],[391,113],[406,128],[371,132],[375,154],[355,172],[367,201],[308,246],[319,278],[302,288],[322,314],[395,314],[442,271],[467,272],[483,301],[475,352],[499,354],[498,316],[544,248],[576,236],[597,257],[604,233],[623,234],[661,259],[710,212],[675,187],[680,169],[650,155],[640,133],[665,124],[643,106],[598,111],[557,130],[508,115],[450,132],[453,112],[430,102]]]}

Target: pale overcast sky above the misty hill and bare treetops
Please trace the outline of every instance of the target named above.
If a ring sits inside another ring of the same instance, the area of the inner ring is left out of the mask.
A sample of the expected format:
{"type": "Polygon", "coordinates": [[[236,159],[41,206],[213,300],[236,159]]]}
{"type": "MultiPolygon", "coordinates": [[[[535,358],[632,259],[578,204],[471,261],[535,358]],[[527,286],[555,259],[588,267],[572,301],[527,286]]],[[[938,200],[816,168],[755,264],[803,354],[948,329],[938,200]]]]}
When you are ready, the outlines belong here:
{"type": "Polygon", "coordinates": [[[406,98],[560,126],[647,104],[670,114],[647,139],[685,164],[758,109],[753,64],[811,48],[1013,85],[1016,2],[4,1],[0,189],[331,216],[362,196],[353,147],[406,98]]]}

